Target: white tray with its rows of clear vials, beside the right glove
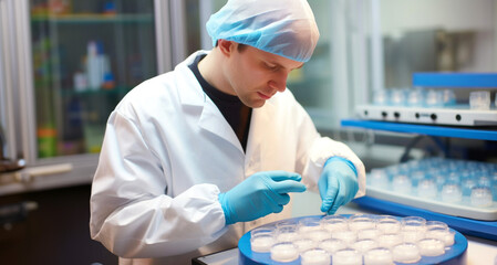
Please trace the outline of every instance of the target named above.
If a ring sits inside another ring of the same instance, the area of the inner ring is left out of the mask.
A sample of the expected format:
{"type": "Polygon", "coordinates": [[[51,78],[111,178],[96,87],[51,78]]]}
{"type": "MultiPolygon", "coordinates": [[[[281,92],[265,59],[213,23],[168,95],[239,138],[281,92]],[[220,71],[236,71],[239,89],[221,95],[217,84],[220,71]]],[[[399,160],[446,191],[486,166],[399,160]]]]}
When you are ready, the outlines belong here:
{"type": "Polygon", "coordinates": [[[497,221],[497,201],[494,200],[495,191],[490,189],[495,181],[487,177],[495,172],[496,165],[426,158],[417,163],[405,162],[375,171],[398,171],[400,168],[407,170],[407,174],[421,170],[425,177],[417,187],[412,184],[411,191],[403,188],[408,186],[405,182],[411,181],[411,178],[405,178],[404,174],[393,176],[391,184],[379,183],[373,179],[369,181],[367,194],[445,214],[497,221]]]}

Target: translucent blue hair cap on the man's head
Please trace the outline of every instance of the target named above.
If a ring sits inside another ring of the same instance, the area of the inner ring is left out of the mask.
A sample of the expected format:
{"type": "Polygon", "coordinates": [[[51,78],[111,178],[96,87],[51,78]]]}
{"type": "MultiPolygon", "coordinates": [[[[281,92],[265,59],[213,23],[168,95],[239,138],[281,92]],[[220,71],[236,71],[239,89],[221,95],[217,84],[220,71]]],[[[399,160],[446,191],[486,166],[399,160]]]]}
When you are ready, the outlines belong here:
{"type": "Polygon", "coordinates": [[[309,61],[319,39],[307,0],[228,0],[206,26],[213,45],[224,39],[298,62],[309,61]]]}

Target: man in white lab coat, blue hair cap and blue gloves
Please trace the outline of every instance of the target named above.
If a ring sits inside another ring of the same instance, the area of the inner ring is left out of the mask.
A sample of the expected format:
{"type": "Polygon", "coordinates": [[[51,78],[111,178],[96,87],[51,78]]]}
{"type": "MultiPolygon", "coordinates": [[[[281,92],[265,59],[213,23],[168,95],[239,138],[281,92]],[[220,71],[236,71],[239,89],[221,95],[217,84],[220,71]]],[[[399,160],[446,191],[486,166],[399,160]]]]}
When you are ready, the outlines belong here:
{"type": "Polygon", "coordinates": [[[308,2],[229,0],[207,31],[210,52],[138,85],[110,116],[90,226],[121,264],[189,264],[235,247],[290,218],[301,179],[329,214],[364,194],[362,162],[321,137],[286,87],[319,39],[308,2]]]}

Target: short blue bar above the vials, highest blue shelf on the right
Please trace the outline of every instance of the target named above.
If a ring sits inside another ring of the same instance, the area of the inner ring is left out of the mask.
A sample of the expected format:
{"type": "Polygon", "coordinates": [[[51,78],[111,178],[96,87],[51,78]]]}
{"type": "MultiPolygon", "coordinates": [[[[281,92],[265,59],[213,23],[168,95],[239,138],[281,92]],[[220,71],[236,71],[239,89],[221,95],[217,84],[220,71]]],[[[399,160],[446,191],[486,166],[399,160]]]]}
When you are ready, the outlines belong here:
{"type": "Polygon", "coordinates": [[[497,88],[497,73],[414,73],[413,86],[497,88]]]}

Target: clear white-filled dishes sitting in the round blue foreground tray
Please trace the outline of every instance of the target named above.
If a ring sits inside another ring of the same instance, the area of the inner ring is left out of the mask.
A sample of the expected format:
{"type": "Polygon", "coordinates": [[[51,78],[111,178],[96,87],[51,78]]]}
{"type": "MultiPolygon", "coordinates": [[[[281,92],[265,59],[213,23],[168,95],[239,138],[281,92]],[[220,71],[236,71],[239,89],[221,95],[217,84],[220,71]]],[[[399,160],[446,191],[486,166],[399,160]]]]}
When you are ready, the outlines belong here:
{"type": "Polygon", "coordinates": [[[417,263],[444,255],[454,239],[455,231],[443,222],[374,214],[308,216],[250,231],[252,252],[308,265],[417,263]]]}

